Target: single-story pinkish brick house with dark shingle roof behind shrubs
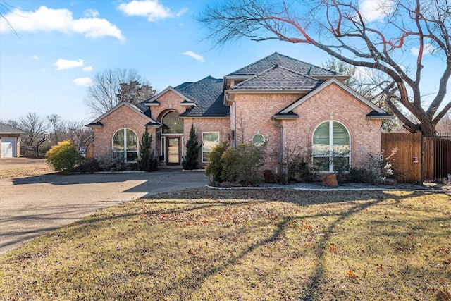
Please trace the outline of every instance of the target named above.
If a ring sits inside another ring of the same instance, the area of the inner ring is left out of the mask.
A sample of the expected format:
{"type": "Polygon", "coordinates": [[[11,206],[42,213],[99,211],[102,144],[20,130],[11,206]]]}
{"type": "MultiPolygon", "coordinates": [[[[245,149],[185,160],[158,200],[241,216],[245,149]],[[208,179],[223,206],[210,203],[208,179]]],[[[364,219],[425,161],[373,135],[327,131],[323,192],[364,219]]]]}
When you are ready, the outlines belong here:
{"type": "Polygon", "coordinates": [[[112,151],[136,161],[147,126],[159,164],[178,166],[193,124],[202,164],[221,141],[267,142],[266,168],[276,173],[299,148],[310,150],[319,171],[331,172],[338,161],[359,166],[381,152],[381,123],[393,118],[343,84],[346,78],[274,53],[223,79],[167,87],[136,106],[122,102],[87,126],[94,129],[95,156],[112,151]]]}

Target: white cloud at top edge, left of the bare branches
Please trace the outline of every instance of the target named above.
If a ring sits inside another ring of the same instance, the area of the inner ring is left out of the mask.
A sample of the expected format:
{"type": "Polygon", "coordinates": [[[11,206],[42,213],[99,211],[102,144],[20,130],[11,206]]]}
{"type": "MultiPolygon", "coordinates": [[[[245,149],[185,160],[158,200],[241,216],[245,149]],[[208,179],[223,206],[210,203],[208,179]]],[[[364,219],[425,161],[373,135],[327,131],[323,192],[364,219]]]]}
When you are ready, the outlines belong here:
{"type": "Polygon", "coordinates": [[[149,22],[162,20],[165,18],[180,17],[187,10],[181,9],[178,12],[172,12],[171,9],[159,4],[158,0],[133,0],[127,4],[123,3],[118,6],[118,9],[128,16],[143,16],[147,17],[149,22]]]}

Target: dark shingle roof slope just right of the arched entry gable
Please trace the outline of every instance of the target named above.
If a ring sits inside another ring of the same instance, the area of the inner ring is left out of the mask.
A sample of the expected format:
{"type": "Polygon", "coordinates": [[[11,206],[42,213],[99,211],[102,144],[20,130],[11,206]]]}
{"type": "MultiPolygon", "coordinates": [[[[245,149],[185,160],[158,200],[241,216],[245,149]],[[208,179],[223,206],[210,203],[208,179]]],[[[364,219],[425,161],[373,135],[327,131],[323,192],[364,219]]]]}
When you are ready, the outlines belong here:
{"type": "Polygon", "coordinates": [[[180,114],[182,117],[230,116],[228,106],[223,105],[223,80],[207,76],[190,85],[179,85],[174,88],[196,106],[180,114]],[[181,87],[181,88],[180,88],[181,87]]]}

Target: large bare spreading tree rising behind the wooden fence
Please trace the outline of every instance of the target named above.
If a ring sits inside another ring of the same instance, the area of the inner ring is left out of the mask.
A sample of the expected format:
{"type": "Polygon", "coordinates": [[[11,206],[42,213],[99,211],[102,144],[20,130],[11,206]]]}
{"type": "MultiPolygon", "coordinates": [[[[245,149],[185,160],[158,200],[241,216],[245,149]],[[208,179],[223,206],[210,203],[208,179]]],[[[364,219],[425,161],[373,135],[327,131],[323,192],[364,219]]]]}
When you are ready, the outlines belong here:
{"type": "Polygon", "coordinates": [[[377,3],[366,13],[359,0],[230,0],[207,6],[197,20],[218,45],[242,37],[311,44],[340,61],[385,73],[390,80],[380,83],[381,95],[404,128],[434,135],[438,121],[451,109],[451,102],[443,103],[451,75],[451,2],[377,3]],[[409,62],[412,49],[417,53],[409,62]],[[429,104],[421,94],[426,54],[443,59],[443,69],[435,70],[440,80],[429,104]],[[419,122],[409,119],[408,112],[419,122]]]}

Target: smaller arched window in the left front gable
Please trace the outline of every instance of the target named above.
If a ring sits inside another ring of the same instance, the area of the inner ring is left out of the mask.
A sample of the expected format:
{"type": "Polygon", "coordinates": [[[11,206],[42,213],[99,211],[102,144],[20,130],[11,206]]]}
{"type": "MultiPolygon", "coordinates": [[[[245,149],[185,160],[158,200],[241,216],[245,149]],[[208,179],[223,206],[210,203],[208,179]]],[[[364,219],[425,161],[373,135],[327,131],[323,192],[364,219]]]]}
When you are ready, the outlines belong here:
{"type": "Polygon", "coordinates": [[[125,162],[138,159],[138,137],[130,128],[121,128],[113,135],[113,155],[122,156],[125,162]]]}

